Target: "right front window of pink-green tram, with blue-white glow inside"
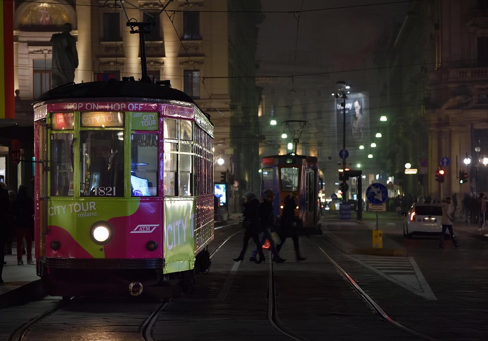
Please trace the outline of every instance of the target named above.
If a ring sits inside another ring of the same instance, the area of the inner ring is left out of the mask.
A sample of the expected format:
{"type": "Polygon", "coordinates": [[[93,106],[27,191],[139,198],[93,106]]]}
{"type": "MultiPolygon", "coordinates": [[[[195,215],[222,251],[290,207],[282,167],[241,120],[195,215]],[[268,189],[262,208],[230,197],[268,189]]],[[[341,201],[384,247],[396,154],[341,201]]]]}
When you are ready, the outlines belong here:
{"type": "Polygon", "coordinates": [[[131,135],[131,195],[158,194],[158,134],[131,135]]]}

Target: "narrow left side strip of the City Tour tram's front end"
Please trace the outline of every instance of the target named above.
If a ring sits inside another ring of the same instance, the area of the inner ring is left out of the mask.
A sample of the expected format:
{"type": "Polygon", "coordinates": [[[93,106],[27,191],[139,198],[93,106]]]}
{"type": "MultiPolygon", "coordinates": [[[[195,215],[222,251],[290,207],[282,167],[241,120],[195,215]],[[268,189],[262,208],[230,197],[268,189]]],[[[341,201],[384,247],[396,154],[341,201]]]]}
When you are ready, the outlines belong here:
{"type": "Polygon", "coordinates": [[[39,150],[39,160],[36,161],[44,161],[36,163],[36,167],[39,169],[39,223],[38,228],[39,231],[37,233],[38,239],[36,242],[38,243],[39,247],[39,256],[45,256],[45,238],[46,238],[46,228],[47,228],[47,170],[48,170],[48,163],[47,161],[47,146],[48,146],[48,125],[46,124],[46,120],[40,121],[39,125],[39,141],[37,144],[37,149],[39,150]]]}

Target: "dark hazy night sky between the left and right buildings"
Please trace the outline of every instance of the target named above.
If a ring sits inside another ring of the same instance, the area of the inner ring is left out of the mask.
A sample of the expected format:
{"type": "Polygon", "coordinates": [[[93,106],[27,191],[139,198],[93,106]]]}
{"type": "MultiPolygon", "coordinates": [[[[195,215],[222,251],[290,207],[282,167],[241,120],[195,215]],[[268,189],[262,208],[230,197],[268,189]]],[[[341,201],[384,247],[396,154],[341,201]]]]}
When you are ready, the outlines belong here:
{"type": "Polygon", "coordinates": [[[364,70],[375,67],[378,42],[398,29],[410,3],[262,0],[258,75],[329,73],[332,88],[347,78],[356,89],[371,91],[375,84],[364,70]]]}

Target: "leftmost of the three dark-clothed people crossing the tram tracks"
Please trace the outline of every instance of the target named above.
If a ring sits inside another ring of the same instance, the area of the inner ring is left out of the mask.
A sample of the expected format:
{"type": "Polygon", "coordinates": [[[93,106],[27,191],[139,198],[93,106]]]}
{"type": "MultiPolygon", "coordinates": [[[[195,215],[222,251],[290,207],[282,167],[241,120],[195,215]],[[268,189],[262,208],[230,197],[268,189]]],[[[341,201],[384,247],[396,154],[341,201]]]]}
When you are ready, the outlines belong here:
{"type": "Polygon", "coordinates": [[[253,238],[256,247],[259,246],[259,263],[264,261],[263,249],[259,244],[259,232],[261,231],[261,226],[258,217],[258,206],[259,200],[256,195],[253,192],[247,192],[244,197],[244,209],[242,210],[243,219],[241,219],[244,225],[243,227],[246,228],[246,232],[244,233],[244,238],[242,239],[242,249],[240,250],[239,256],[237,258],[233,258],[235,262],[244,259],[244,254],[248,248],[249,238],[253,238]]]}

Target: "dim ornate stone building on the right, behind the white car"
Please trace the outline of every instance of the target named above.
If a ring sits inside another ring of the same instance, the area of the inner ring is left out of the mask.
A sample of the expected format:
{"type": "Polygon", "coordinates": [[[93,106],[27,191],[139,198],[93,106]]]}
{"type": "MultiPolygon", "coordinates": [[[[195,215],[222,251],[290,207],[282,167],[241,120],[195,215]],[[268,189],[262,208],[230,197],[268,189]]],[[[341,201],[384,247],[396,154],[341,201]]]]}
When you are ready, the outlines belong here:
{"type": "Polygon", "coordinates": [[[382,156],[393,194],[458,193],[461,201],[486,191],[488,3],[417,2],[384,46],[379,106],[389,113],[391,134],[382,156]],[[404,174],[406,162],[419,174],[404,174]],[[443,183],[436,181],[440,168],[443,183]],[[460,183],[460,172],[468,182],[460,183]]]}

